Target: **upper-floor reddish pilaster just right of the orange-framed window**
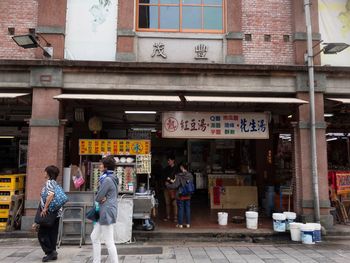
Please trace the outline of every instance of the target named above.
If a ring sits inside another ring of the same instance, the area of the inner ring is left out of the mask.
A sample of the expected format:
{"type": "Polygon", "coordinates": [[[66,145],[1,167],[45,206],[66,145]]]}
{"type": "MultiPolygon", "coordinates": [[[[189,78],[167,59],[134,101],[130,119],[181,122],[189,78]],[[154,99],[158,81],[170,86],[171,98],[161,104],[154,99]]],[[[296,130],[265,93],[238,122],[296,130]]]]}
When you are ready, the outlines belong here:
{"type": "Polygon", "coordinates": [[[227,1],[226,63],[244,63],[242,33],[242,0],[227,1]]]}

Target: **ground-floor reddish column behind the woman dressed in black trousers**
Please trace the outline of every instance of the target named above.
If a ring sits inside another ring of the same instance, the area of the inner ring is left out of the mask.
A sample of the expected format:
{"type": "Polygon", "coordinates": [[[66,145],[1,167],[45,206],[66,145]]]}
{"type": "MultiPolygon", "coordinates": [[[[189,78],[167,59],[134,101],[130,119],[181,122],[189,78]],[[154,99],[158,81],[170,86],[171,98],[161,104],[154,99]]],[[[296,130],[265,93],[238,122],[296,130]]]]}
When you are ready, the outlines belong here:
{"type": "Polygon", "coordinates": [[[33,223],[40,192],[45,182],[44,169],[56,165],[62,182],[64,127],[60,124],[60,103],[53,96],[60,88],[33,88],[32,117],[29,122],[28,163],[25,192],[25,216],[22,229],[33,223]]]}

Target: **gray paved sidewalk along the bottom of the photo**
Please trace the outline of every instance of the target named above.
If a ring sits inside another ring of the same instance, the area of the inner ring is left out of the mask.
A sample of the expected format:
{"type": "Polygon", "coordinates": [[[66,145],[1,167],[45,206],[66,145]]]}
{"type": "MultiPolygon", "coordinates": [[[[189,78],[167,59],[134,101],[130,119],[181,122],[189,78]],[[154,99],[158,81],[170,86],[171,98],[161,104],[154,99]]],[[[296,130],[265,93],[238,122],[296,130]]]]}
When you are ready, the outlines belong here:
{"type": "MultiPolygon", "coordinates": [[[[323,242],[316,245],[302,244],[253,244],[253,243],[133,243],[117,245],[119,263],[348,263],[349,242],[323,242]]],[[[91,245],[81,248],[64,245],[58,249],[60,262],[92,262],[91,245]]],[[[107,251],[102,251],[102,261],[108,262],[107,251]]],[[[35,239],[1,239],[0,262],[41,262],[43,252],[35,239]]]]}

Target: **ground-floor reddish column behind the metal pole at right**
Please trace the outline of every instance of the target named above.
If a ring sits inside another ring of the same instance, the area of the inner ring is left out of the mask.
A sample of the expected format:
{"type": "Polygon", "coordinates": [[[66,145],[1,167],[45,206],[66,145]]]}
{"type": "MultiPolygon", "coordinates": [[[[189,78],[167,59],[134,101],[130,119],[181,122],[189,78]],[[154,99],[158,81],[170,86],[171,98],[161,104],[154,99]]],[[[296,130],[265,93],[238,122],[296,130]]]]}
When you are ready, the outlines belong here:
{"type": "MultiPolygon", "coordinates": [[[[308,93],[299,92],[299,99],[308,101],[308,93]]],[[[325,227],[333,224],[333,217],[330,215],[330,202],[328,195],[328,162],[326,145],[326,123],[324,121],[323,93],[315,94],[316,109],[316,147],[317,147],[317,171],[319,184],[319,198],[321,210],[321,223],[325,227]]],[[[299,107],[298,123],[295,128],[295,149],[297,151],[296,162],[296,200],[298,211],[301,212],[303,220],[313,221],[313,184],[310,162],[310,125],[309,125],[309,105],[299,107]]]]}

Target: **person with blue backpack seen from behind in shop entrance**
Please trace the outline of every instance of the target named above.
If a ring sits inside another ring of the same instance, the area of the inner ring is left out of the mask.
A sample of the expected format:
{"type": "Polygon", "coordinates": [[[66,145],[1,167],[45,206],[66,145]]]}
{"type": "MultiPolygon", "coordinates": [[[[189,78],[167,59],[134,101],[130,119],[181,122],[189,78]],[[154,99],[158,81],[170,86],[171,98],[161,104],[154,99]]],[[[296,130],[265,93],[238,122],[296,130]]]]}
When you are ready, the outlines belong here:
{"type": "Polygon", "coordinates": [[[176,203],[177,203],[177,225],[176,227],[183,227],[183,217],[185,215],[186,225],[191,226],[191,194],[194,191],[193,176],[188,172],[188,165],[186,163],[180,164],[181,173],[175,176],[172,183],[166,183],[167,188],[176,189],[176,203]]]}

